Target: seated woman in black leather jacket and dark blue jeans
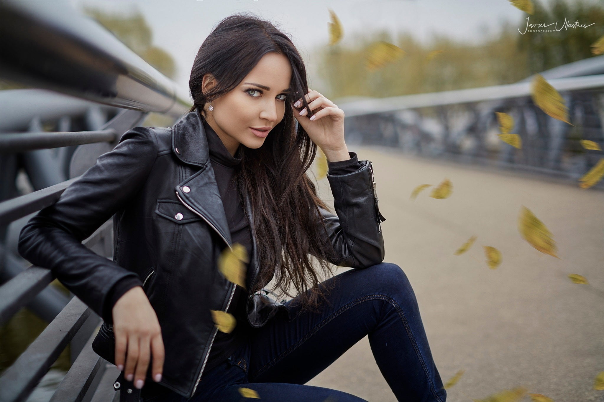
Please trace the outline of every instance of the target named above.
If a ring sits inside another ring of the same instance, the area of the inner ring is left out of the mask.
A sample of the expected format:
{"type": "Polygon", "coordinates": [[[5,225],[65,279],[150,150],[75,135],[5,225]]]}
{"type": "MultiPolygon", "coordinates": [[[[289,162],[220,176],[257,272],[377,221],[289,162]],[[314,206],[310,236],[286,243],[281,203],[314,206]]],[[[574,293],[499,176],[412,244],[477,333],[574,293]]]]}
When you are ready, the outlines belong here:
{"type": "Polygon", "coordinates": [[[291,40],[253,15],[226,17],[189,85],[177,124],[124,133],[19,239],[103,317],[93,348],[121,370],[121,400],[362,401],[304,383],[368,334],[398,400],[445,401],[413,289],[382,262],[371,163],[348,151],[344,112],[307,89],[291,40]],[[316,146],[335,214],[306,175],[316,146]],[[81,244],[112,215],[114,261],[81,244]],[[237,243],[245,286],[217,268],[237,243]],[[329,263],[354,269],[333,276],[329,263]],[[297,296],[268,297],[273,278],[297,296]]]}

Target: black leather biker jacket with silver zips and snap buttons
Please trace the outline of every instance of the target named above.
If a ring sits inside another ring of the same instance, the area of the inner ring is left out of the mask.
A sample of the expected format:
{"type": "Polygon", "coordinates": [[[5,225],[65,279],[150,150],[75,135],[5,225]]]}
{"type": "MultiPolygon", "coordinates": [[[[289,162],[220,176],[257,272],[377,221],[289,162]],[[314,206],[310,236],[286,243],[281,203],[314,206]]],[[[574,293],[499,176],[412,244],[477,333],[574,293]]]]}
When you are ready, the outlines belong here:
{"type": "MultiPolygon", "coordinates": [[[[339,256],[337,266],[367,268],[384,260],[373,169],[367,160],[345,175],[327,175],[337,215],[321,219],[339,256]]],[[[259,272],[251,204],[252,260],[246,286],[259,272]]],[[[320,221],[317,219],[317,223],[320,221]]],[[[109,289],[127,276],[140,278],[162,331],[165,360],[161,385],[191,398],[201,381],[216,336],[210,310],[228,309],[236,284],[216,267],[230,231],[204,126],[197,111],[172,128],[135,127],[112,151],[98,157],[59,200],[21,230],[18,250],[37,266],[50,268],[84,303],[102,316],[109,289]],[[114,217],[114,260],[82,245],[114,217]]],[[[266,284],[262,284],[266,286],[266,284]]],[[[262,292],[250,295],[248,321],[262,327],[286,307],[262,292]]],[[[93,349],[111,363],[115,338],[103,322],[93,349]]],[[[151,365],[146,382],[153,381],[151,365]]]]}

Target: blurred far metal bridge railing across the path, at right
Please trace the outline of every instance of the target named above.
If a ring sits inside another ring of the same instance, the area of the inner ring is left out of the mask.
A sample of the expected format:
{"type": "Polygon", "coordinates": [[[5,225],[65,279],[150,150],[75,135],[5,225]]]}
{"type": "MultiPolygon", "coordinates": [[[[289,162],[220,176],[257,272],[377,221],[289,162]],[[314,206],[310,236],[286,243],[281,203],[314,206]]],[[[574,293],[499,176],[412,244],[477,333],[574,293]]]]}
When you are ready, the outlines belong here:
{"type": "MultiPolygon", "coordinates": [[[[585,149],[580,140],[604,148],[604,55],[541,75],[561,93],[573,125],[536,107],[528,77],[507,85],[338,102],[346,115],[347,142],[432,160],[532,172],[576,185],[602,158],[602,151],[585,149]],[[497,136],[501,132],[496,111],[513,117],[510,133],[521,137],[521,149],[497,136]]],[[[604,189],[604,182],[593,188],[604,189]]]]}

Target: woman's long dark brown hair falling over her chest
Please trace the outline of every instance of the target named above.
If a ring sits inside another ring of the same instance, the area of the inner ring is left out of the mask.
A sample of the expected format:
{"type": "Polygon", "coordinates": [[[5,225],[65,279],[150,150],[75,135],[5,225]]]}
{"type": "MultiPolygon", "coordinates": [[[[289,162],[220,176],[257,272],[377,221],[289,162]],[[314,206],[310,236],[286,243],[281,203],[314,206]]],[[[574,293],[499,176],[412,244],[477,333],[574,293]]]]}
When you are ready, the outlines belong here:
{"type": "MultiPolygon", "coordinates": [[[[258,239],[258,279],[249,294],[263,289],[275,278],[273,290],[288,292],[289,283],[300,294],[302,310],[318,307],[318,297],[325,297],[311,257],[316,257],[323,274],[333,276],[330,264],[335,258],[327,238],[318,207],[333,212],[317,195],[306,171],[316,154],[316,145],[297,124],[287,104],[303,98],[307,92],[306,68],[297,49],[286,34],[254,14],[239,13],[221,20],[204,40],[193,62],[189,89],[193,98],[190,111],[198,110],[205,118],[206,102],[230,92],[249,74],[268,52],[284,55],[291,63],[292,78],[283,120],[266,137],[258,149],[242,148],[242,161],[234,177],[237,186],[248,193],[258,239]],[[216,86],[202,91],[205,74],[212,74],[216,86]],[[298,126],[296,128],[296,125],[298,126]]],[[[304,107],[310,114],[306,99],[304,107]]]]}

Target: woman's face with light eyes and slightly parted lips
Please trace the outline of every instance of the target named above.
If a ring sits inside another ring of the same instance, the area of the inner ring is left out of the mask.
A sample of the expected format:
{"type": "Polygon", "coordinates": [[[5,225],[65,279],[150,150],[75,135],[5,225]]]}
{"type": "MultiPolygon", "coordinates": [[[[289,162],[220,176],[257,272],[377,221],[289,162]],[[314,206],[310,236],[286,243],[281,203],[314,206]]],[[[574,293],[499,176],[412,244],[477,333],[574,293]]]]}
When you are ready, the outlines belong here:
{"type": "MultiPolygon", "coordinates": [[[[226,149],[234,155],[239,144],[248,148],[260,148],[271,129],[279,124],[288,102],[292,68],[284,55],[270,52],[243,78],[239,86],[212,102],[213,110],[204,105],[207,122],[216,131],[226,149]],[[253,128],[268,128],[254,131],[253,128]]],[[[211,75],[205,75],[204,92],[215,83],[211,75]],[[206,84],[207,83],[207,84],[206,84]]]]}

